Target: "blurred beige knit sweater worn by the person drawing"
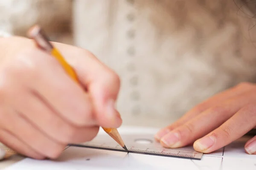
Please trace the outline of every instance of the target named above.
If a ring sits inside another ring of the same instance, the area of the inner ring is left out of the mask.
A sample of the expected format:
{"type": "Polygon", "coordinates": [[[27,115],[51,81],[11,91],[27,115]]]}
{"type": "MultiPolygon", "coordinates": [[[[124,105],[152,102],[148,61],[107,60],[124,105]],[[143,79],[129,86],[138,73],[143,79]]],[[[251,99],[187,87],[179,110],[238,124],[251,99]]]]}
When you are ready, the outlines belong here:
{"type": "Polygon", "coordinates": [[[2,30],[25,35],[40,23],[52,40],[113,68],[122,81],[117,107],[135,125],[167,125],[219,91],[255,81],[253,15],[240,0],[0,0],[2,30]],[[70,30],[74,39],[63,39],[70,30]]]}

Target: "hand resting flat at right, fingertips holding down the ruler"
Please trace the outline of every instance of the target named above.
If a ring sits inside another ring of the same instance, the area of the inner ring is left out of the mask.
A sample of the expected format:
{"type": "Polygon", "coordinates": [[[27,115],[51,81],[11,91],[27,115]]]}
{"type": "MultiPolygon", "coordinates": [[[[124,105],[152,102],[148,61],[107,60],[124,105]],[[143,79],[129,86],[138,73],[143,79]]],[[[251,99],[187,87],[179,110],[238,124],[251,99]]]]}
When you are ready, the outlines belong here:
{"type": "MultiPolygon", "coordinates": [[[[195,106],[155,138],[164,147],[193,143],[196,151],[210,153],[240,138],[256,126],[256,84],[241,83],[195,106]]],[[[256,153],[256,136],[245,144],[256,153]]]]}

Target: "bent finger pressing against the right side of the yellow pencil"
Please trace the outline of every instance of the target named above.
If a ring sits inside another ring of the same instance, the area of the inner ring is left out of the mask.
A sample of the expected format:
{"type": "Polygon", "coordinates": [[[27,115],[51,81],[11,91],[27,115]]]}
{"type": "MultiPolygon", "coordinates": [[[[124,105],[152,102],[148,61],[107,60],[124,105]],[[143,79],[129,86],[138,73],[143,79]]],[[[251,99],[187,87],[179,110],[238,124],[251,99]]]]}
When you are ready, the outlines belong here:
{"type": "Polygon", "coordinates": [[[87,59],[90,58],[84,57],[84,62],[91,63],[90,68],[86,71],[83,71],[82,66],[76,68],[81,69],[78,72],[93,99],[98,123],[103,127],[119,127],[122,119],[115,106],[120,86],[119,77],[110,69],[99,65],[97,60],[86,61],[87,59]]]}

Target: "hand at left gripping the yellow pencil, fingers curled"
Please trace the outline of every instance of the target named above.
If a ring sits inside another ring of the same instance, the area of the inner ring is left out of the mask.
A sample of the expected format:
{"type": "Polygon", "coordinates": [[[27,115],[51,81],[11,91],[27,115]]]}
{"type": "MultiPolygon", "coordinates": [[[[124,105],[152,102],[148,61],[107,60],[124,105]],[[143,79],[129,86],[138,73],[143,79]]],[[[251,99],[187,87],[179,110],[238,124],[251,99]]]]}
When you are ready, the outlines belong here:
{"type": "Polygon", "coordinates": [[[52,44],[79,83],[33,40],[0,39],[0,142],[35,159],[55,159],[67,144],[93,139],[99,126],[122,123],[114,106],[118,76],[84,49],[52,44]]]}

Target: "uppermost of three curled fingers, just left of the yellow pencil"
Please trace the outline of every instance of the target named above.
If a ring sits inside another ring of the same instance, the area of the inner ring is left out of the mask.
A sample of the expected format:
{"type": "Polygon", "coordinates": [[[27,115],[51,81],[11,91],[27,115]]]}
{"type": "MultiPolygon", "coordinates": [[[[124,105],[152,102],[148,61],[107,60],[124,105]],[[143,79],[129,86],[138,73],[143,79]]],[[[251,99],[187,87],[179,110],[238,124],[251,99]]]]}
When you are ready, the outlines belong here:
{"type": "Polygon", "coordinates": [[[12,76],[19,83],[31,88],[70,123],[78,126],[96,124],[88,94],[54,57],[35,49],[26,51],[14,63],[13,70],[12,76]]]}

